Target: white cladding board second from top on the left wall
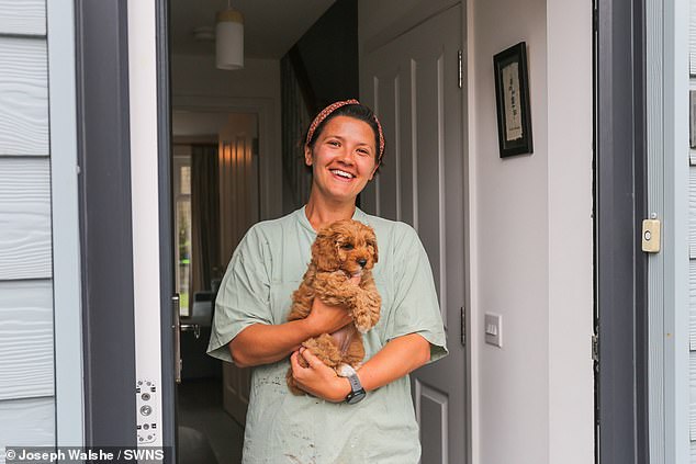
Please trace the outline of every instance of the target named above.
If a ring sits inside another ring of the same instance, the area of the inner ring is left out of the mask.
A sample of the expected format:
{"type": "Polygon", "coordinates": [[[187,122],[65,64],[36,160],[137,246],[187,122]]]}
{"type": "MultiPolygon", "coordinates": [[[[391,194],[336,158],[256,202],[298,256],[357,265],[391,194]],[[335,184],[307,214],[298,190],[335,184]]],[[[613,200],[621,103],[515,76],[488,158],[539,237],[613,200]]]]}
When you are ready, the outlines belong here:
{"type": "Polygon", "coordinates": [[[0,36],[0,155],[48,155],[46,39],[0,36]]]}

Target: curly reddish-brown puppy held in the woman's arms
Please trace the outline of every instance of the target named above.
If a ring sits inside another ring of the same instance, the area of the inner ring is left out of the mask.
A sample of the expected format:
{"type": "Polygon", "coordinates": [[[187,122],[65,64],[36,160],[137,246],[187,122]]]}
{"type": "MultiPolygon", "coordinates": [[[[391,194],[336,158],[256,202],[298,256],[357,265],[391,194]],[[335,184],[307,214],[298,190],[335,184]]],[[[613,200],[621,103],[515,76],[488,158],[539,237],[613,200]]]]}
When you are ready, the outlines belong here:
{"type": "MultiPolygon", "coordinates": [[[[382,298],[374,285],[372,267],[377,262],[377,237],[364,224],[345,219],[318,231],[312,245],[312,261],[300,287],[292,294],[288,320],[304,319],[312,310],[315,297],[332,306],[346,307],[352,324],[338,332],[323,333],[302,343],[338,375],[355,372],[364,358],[361,333],[370,330],[380,319],[382,298]],[[360,283],[350,279],[360,275],[360,283]]],[[[306,366],[302,357],[300,363],[306,366]]],[[[288,386],[295,395],[304,395],[288,371],[288,386]]]]}

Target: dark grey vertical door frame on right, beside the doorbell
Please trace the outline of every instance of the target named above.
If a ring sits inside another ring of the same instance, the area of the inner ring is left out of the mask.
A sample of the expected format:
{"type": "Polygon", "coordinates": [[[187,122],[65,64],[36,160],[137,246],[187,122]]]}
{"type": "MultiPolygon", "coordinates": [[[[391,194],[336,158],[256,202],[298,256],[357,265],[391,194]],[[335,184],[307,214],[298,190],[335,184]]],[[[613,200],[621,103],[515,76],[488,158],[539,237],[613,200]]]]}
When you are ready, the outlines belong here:
{"type": "Polygon", "coordinates": [[[644,0],[594,1],[596,461],[648,463],[644,0]]]}

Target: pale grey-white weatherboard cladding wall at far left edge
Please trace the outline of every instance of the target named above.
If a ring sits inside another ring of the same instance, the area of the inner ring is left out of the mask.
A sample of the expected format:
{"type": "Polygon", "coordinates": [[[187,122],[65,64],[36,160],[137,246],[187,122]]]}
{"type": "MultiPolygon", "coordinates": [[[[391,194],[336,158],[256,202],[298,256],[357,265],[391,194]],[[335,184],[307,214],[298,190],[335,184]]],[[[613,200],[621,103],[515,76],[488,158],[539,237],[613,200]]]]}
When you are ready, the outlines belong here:
{"type": "Polygon", "coordinates": [[[55,443],[45,0],[0,0],[0,463],[55,443]]]}

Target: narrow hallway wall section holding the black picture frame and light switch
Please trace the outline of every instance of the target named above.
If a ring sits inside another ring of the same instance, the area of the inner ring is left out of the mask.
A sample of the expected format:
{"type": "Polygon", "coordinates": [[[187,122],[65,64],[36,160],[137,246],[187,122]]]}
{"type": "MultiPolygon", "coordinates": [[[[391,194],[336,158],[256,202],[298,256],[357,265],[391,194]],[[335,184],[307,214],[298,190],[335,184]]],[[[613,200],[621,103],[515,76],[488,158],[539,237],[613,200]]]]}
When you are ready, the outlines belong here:
{"type": "Polygon", "coordinates": [[[549,230],[545,0],[470,1],[474,411],[480,462],[549,462],[549,230]],[[505,12],[504,14],[501,14],[505,12]],[[527,42],[534,155],[501,159],[493,55],[527,42]],[[484,344],[484,313],[503,348],[484,344]],[[476,392],[478,387],[478,392],[476,392]]]}

